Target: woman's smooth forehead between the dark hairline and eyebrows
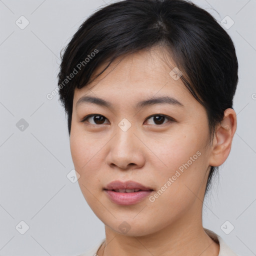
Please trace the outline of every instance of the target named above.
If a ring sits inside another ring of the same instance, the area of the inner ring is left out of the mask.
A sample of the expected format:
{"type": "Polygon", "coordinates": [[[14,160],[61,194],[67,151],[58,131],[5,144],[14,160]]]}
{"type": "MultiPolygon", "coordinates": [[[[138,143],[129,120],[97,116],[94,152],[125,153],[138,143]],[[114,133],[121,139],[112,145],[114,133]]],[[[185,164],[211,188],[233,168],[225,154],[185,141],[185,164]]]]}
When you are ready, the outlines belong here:
{"type": "Polygon", "coordinates": [[[188,92],[182,80],[175,74],[178,68],[163,48],[154,47],[119,56],[96,77],[107,63],[100,64],[94,70],[86,86],[75,89],[74,99],[77,100],[81,94],[92,91],[100,95],[110,93],[112,97],[130,93],[152,96],[158,92],[188,92]]]}

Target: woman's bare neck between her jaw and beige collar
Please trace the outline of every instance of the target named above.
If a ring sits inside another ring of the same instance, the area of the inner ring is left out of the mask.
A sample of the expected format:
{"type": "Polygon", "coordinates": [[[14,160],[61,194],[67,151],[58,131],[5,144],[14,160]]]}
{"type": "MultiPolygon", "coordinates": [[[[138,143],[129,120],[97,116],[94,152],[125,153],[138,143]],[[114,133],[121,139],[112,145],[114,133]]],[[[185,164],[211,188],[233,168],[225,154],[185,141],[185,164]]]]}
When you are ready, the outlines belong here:
{"type": "Polygon", "coordinates": [[[218,256],[219,245],[204,231],[201,221],[175,223],[155,233],[143,236],[127,236],[114,232],[105,226],[105,243],[98,250],[98,256],[218,256]]]}

